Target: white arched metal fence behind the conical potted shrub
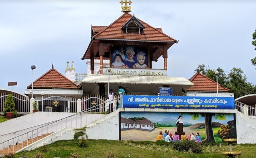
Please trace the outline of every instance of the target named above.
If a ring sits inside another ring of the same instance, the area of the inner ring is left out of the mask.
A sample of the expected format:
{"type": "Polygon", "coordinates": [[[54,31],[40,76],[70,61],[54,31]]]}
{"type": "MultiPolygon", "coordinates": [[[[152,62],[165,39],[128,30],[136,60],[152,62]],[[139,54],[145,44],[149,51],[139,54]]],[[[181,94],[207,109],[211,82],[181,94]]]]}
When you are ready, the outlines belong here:
{"type": "Polygon", "coordinates": [[[30,101],[23,95],[12,92],[3,92],[0,94],[0,113],[4,110],[4,102],[8,96],[11,94],[14,99],[15,110],[19,113],[28,113],[30,112],[30,101]]]}

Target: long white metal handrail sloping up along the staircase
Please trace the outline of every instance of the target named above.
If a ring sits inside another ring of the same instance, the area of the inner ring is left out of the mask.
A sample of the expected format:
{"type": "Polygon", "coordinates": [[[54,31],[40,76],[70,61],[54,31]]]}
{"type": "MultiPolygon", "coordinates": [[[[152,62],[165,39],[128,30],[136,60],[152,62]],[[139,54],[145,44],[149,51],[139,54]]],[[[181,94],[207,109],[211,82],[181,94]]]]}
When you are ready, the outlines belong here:
{"type": "MultiPolygon", "coordinates": [[[[119,99],[119,98],[121,98],[121,97],[118,97],[118,98],[116,98],[116,99],[119,99]]],[[[90,98],[88,98],[88,99],[86,99],[86,100],[89,100],[90,98]]],[[[86,101],[86,100],[84,100],[84,101],[86,101]]],[[[113,100],[115,100],[115,99],[113,99],[113,100]]],[[[68,118],[71,118],[72,119],[72,117],[73,116],[77,116],[77,115],[81,115],[81,113],[86,113],[87,114],[87,112],[88,113],[90,113],[90,117],[91,117],[91,115],[92,115],[92,112],[93,111],[95,111],[95,114],[97,114],[97,112],[96,112],[96,110],[98,110],[98,109],[100,109],[100,114],[102,113],[102,111],[101,111],[101,109],[102,108],[105,108],[105,115],[106,115],[106,107],[108,106],[108,105],[106,105],[106,106],[102,106],[101,107],[101,105],[103,105],[103,104],[106,104],[106,103],[108,103],[108,102],[111,102],[111,101],[113,101],[113,100],[109,100],[109,101],[106,101],[106,102],[104,102],[104,103],[100,103],[100,104],[98,104],[98,105],[96,105],[96,106],[94,106],[94,107],[90,107],[90,108],[88,108],[88,109],[85,109],[85,110],[83,110],[83,111],[81,111],[81,112],[77,112],[77,113],[74,113],[73,115],[70,115],[70,116],[68,116],[68,117],[65,117],[65,118],[62,118],[62,119],[58,119],[58,120],[55,120],[55,121],[52,121],[52,122],[48,122],[46,125],[44,125],[44,126],[41,126],[41,127],[39,127],[39,128],[36,128],[36,129],[33,129],[33,130],[31,130],[31,131],[28,131],[28,132],[26,132],[26,133],[24,133],[24,134],[21,134],[21,135],[19,135],[19,136],[16,136],[16,137],[14,137],[14,138],[11,138],[11,139],[9,139],[9,140],[6,140],[6,141],[4,141],[4,142],[2,142],[2,143],[0,143],[0,145],[1,144],[3,144],[3,151],[4,151],[4,148],[5,148],[5,143],[6,142],[8,142],[8,146],[10,146],[10,141],[11,140],[13,140],[13,146],[14,146],[14,139],[16,139],[16,138],[19,138],[19,137],[24,137],[24,136],[26,136],[27,135],[27,141],[28,141],[28,134],[29,133],[31,133],[32,132],[32,136],[30,137],[31,139],[32,139],[32,142],[33,142],[33,131],[37,131],[37,139],[38,139],[38,130],[40,130],[41,129],[41,134],[42,134],[42,137],[43,137],[43,128],[44,127],[46,127],[47,128],[47,130],[46,130],[46,135],[48,135],[48,125],[52,125],[52,132],[51,133],[53,133],[53,124],[54,123],[56,123],[56,130],[58,130],[58,121],[61,121],[61,128],[62,128],[62,120],[65,120],[66,119],[66,125],[67,125],[67,123],[68,123],[68,118]]],[[[96,117],[96,120],[97,120],[97,116],[95,115],[95,117],[96,117]]],[[[100,117],[100,118],[102,118],[102,117],[100,117]]],[[[76,117],[76,119],[77,119],[77,117],[76,117]]],[[[90,121],[91,122],[93,122],[92,121],[92,117],[91,117],[91,119],[90,119],[90,121]]],[[[86,124],[89,124],[89,123],[91,123],[91,122],[88,122],[87,123],[87,117],[86,117],[86,124]]],[[[44,123],[45,124],[45,123],[44,123]]],[[[41,124],[41,125],[43,125],[43,124],[41,124]]],[[[77,125],[77,120],[76,120],[76,125],[77,125]]],[[[37,126],[39,126],[39,125],[37,125],[37,126]]],[[[71,120],[71,126],[72,126],[72,120],[71,120]]],[[[34,126],[35,127],[35,126],[34,126]]],[[[81,127],[82,127],[82,116],[81,116],[81,127]]],[[[32,127],[30,127],[30,128],[32,128],[32,127]]],[[[24,140],[22,139],[22,143],[24,142],[24,140]]],[[[18,141],[17,141],[17,144],[19,143],[19,139],[18,139],[18,141]]],[[[19,147],[18,147],[19,148],[19,147]]]]}

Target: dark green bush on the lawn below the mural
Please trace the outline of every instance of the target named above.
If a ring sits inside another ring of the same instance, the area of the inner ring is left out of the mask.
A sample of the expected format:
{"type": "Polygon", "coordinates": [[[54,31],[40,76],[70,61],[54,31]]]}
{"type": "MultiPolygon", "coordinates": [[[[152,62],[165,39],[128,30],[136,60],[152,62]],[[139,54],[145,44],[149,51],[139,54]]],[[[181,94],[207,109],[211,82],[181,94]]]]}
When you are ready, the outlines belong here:
{"type": "Polygon", "coordinates": [[[202,153],[202,146],[200,143],[185,140],[183,142],[177,141],[173,143],[173,148],[178,151],[186,151],[191,150],[193,153],[202,153]]]}

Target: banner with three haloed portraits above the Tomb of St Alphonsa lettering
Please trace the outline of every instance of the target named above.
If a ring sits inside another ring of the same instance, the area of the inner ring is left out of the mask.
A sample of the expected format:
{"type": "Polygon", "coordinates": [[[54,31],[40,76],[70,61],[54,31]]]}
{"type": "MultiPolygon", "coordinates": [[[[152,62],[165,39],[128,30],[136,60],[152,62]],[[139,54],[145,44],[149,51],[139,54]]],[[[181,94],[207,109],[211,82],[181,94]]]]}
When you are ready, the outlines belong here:
{"type": "Polygon", "coordinates": [[[111,67],[147,69],[147,48],[112,47],[111,67]]]}

